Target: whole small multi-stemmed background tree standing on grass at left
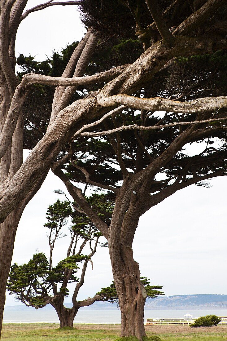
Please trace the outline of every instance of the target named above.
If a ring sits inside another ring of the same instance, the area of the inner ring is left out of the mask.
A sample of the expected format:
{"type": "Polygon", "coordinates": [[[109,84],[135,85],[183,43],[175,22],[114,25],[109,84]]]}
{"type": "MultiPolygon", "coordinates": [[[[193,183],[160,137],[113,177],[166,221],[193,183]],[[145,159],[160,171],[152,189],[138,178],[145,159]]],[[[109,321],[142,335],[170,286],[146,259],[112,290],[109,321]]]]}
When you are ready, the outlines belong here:
{"type": "MultiPolygon", "coordinates": [[[[90,205],[102,212],[98,213],[108,222],[108,211],[111,211],[111,201],[104,194],[93,194],[87,198],[90,205]],[[105,218],[107,217],[107,218],[105,218]]],[[[75,206],[74,206],[75,207],[75,206]]],[[[100,242],[101,233],[90,219],[76,207],[72,210],[68,201],[60,202],[58,199],[47,209],[48,222],[44,225],[48,228],[49,261],[44,253],[35,253],[27,264],[14,264],[11,267],[7,290],[26,306],[36,309],[45,307],[48,303],[53,306],[58,314],[60,328],[73,327],[74,318],[80,307],[90,306],[96,300],[106,300],[102,293],[92,298],[77,301],[80,287],[84,284],[85,272],[88,262],[93,268],[92,256],[97,246],[105,246],[100,242]],[[72,226],[69,228],[71,239],[67,249],[67,257],[56,266],[52,266],[52,255],[56,240],[66,236],[62,233],[62,227],[67,224],[67,218],[71,217],[72,226]],[[82,251],[89,246],[89,254],[83,255],[82,251]],[[80,278],[76,277],[78,264],[83,262],[80,278]],[[64,298],[69,295],[68,283],[77,283],[72,297],[72,308],[64,307],[64,298]]]]}

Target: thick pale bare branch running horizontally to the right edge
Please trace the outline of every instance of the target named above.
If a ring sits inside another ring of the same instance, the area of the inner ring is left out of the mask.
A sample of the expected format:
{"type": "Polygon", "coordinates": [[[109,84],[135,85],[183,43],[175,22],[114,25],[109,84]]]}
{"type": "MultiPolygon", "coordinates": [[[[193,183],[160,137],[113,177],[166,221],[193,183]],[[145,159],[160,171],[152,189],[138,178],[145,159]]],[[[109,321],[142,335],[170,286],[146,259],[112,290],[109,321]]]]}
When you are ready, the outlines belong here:
{"type": "Polygon", "coordinates": [[[215,112],[221,108],[227,108],[227,96],[198,98],[191,102],[178,102],[161,97],[138,98],[119,94],[114,96],[97,96],[99,104],[108,107],[116,104],[125,105],[129,108],[144,109],[147,111],[167,111],[172,113],[196,114],[215,112]]]}

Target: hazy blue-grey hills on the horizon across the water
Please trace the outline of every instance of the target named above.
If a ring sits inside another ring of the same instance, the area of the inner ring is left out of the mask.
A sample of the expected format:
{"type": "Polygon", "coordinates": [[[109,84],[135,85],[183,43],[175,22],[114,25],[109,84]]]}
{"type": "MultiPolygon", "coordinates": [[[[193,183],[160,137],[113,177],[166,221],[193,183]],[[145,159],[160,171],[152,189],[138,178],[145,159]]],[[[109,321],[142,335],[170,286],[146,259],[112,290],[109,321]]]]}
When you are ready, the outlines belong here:
{"type": "MultiPolygon", "coordinates": [[[[72,307],[72,303],[65,303],[65,307],[72,307]]],[[[146,301],[145,309],[227,309],[227,295],[176,295],[176,296],[161,296],[154,299],[148,298],[146,301]]],[[[25,305],[5,307],[6,311],[21,311],[21,310],[33,310],[32,307],[26,307],[25,305]]],[[[42,308],[43,310],[53,310],[50,305],[42,308]]],[[[80,309],[91,310],[111,310],[117,309],[116,303],[108,302],[95,302],[89,307],[80,309]]]]}

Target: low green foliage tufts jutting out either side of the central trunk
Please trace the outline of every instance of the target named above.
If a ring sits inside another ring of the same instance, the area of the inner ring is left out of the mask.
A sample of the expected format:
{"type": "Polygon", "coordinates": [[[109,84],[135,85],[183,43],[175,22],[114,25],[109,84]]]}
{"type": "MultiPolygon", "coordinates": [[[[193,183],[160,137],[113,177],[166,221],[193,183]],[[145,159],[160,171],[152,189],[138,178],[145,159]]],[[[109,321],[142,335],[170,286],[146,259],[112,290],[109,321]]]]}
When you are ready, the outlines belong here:
{"type": "MultiPolygon", "coordinates": [[[[158,295],[165,295],[164,292],[157,290],[162,289],[162,286],[150,285],[150,280],[147,277],[140,277],[140,281],[146,289],[147,297],[155,298],[158,295]]],[[[112,281],[112,283],[106,288],[102,288],[102,290],[98,292],[97,295],[102,296],[102,298],[100,299],[101,301],[108,301],[111,303],[118,302],[118,295],[114,281],[112,281]]]]}

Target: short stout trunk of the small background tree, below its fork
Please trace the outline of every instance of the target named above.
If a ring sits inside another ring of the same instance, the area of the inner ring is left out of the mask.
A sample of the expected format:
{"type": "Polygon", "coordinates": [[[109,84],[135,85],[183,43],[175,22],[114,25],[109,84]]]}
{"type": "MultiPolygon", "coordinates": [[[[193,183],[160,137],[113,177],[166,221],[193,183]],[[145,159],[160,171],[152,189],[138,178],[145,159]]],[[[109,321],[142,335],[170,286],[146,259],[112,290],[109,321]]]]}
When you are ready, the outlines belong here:
{"type": "Polygon", "coordinates": [[[51,305],[55,308],[59,322],[60,328],[71,327],[73,328],[73,321],[78,312],[79,307],[65,308],[63,302],[54,302],[51,305]]]}

